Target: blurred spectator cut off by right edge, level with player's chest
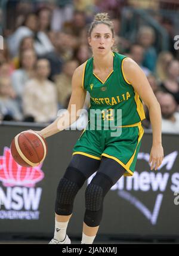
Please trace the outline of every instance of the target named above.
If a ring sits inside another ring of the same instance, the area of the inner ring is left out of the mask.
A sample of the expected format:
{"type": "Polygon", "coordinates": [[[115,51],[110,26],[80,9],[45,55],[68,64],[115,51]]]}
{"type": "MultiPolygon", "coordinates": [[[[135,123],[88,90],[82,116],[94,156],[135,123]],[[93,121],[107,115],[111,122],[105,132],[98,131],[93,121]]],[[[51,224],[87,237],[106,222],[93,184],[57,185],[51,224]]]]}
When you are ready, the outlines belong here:
{"type": "Polygon", "coordinates": [[[172,94],[177,101],[177,104],[179,104],[179,61],[178,60],[172,60],[168,64],[167,69],[167,78],[166,80],[161,84],[161,88],[172,94]]]}

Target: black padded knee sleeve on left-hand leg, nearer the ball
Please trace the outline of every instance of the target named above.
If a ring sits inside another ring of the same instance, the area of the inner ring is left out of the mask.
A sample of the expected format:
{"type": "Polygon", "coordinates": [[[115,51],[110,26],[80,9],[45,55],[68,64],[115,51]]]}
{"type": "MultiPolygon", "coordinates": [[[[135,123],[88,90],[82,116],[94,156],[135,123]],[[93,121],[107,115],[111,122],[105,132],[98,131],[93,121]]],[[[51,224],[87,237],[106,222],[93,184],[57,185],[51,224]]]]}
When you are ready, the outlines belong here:
{"type": "Polygon", "coordinates": [[[55,213],[58,215],[70,215],[73,210],[73,201],[79,189],[83,186],[86,177],[76,168],[68,167],[64,177],[57,187],[55,213]]]}

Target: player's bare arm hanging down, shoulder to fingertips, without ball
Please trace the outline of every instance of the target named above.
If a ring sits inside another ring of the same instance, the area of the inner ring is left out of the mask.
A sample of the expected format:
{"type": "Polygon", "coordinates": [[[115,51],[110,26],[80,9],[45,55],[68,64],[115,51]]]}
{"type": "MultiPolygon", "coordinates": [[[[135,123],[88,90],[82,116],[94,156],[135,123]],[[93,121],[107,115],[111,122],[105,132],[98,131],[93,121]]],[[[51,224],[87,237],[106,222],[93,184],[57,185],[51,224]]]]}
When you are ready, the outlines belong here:
{"type": "Polygon", "coordinates": [[[150,152],[150,161],[152,162],[151,169],[157,169],[163,159],[163,147],[161,137],[161,107],[155,94],[150,87],[150,84],[144,74],[143,70],[131,58],[124,60],[124,74],[129,83],[131,83],[134,90],[137,91],[141,99],[149,109],[150,122],[153,130],[153,144],[150,152]]]}

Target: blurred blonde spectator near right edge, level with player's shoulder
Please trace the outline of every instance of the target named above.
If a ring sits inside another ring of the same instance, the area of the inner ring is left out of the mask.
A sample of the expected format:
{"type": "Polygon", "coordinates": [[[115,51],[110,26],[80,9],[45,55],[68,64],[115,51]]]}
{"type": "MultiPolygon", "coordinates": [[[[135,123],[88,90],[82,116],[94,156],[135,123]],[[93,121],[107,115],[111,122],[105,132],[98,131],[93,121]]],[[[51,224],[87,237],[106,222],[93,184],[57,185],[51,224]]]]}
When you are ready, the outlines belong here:
{"type": "Polygon", "coordinates": [[[173,55],[169,51],[162,51],[159,53],[156,63],[156,76],[160,82],[167,79],[168,64],[173,58],[173,55]]]}

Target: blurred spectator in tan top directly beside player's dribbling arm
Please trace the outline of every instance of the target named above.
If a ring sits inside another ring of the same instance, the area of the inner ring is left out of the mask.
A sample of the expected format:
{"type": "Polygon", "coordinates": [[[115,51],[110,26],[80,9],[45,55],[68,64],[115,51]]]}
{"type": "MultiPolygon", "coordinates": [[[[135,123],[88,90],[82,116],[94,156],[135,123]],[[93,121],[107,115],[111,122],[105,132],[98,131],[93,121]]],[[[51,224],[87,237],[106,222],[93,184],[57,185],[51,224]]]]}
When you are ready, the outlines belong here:
{"type": "Polygon", "coordinates": [[[64,63],[63,72],[54,78],[60,107],[66,106],[67,98],[72,94],[72,76],[78,66],[78,60],[68,60],[64,63]]]}

